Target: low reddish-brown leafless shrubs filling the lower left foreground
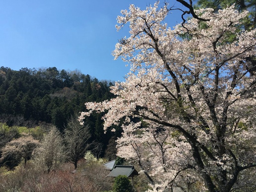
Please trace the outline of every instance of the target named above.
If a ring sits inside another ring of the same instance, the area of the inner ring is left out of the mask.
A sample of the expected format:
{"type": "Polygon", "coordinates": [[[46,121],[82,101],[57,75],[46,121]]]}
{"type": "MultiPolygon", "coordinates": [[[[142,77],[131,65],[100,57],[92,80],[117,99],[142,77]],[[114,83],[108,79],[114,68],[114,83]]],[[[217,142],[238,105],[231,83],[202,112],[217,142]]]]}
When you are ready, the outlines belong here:
{"type": "Polygon", "coordinates": [[[101,166],[88,167],[88,172],[72,172],[73,165],[63,164],[59,170],[45,173],[33,161],[14,171],[0,174],[0,191],[20,192],[99,192],[110,190],[112,183],[101,166]]]}

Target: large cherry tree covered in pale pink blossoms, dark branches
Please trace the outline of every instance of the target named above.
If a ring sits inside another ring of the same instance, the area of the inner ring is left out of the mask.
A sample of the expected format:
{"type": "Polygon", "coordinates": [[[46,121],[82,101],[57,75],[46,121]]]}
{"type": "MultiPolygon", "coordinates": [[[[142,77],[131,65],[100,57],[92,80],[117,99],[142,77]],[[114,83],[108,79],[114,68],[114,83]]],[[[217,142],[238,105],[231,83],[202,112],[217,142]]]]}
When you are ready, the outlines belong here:
{"type": "Polygon", "coordinates": [[[121,11],[116,28],[129,24],[130,36],[113,55],[130,73],[111,87],[116,98],[85,103],[79,120],[105,111],[105,129],[122,122],[117,155],[136,162],[153,191],[255,188],[256,77],[247,58],[256,54],[256,30],[243,29],[248,12],[234,5],[214,12],[177,1],[193,18],[183,14],[174,29],[164,21],[168,4],[121,11]]]}

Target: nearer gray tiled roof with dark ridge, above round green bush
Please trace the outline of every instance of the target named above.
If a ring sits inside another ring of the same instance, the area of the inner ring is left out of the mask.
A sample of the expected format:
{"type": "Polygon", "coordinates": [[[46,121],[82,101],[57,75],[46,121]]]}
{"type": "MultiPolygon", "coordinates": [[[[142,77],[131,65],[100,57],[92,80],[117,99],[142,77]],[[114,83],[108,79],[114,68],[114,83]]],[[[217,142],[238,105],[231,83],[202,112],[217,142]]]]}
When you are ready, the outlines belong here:
{"type": "Polygon", "coordinates": [[[108,174],[108,177],[117,177],[118,175],[132,177],[139,175],[139,173],[134,169],[134,166],[115,165],[114,169],[108,174]]]}

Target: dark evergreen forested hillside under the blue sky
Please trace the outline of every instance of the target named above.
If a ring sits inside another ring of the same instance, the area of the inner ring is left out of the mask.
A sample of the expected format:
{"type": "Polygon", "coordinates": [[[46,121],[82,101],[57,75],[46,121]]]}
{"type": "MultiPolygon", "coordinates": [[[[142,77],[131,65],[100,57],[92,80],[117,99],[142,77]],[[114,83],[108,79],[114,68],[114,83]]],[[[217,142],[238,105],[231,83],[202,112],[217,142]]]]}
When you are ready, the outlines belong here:
{"type": "MultiPolygon", "coordinates": [[[[53,124],[63,133],[68,119],[75,112],[84,111],[85,102],[113,98],[114,95],[109,92],[111,85],[111,82],[99,82],[97,78],[84,75],[79,70],[68,72],[49,67],[15,71],[1,67],[0,121],[12,126],[16,117],[22,117],[20,125],[53,124]]],[[[101,116],[95,113],[85,122],[92,135],[90,140],[102,146],[99,155],[104,156],[109,140],[113,142],[120,133],[108,131],[104,134],[101,116]]]]}

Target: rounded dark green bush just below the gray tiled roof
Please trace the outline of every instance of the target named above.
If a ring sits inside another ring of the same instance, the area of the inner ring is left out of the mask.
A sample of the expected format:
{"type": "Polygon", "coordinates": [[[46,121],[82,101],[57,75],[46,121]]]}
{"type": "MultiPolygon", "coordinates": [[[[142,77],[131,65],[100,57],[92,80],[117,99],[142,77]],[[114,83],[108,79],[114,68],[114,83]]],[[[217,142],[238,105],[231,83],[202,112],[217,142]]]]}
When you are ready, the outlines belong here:
{"type": "Polygon", "coordinates": [[[132,192],[131,181],[125,175],[119,175],[114,180],[113,192],[132,192]]]}

